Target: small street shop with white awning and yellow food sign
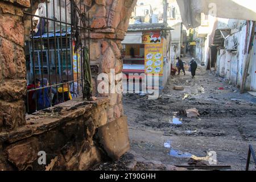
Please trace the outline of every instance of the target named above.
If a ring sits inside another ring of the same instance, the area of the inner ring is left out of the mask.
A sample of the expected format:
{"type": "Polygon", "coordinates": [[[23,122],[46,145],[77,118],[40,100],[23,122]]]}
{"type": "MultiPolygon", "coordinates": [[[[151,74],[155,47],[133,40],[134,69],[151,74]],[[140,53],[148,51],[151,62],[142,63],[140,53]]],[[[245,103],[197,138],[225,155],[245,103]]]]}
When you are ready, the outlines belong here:
{"type": "Polygon", "coordinates": [[[170,77],[171,28],[156,25],[151,30],[138,25],[136,31],[128,30],[122,42],[123,88],[127,93],[162,92],[170,77]]]}

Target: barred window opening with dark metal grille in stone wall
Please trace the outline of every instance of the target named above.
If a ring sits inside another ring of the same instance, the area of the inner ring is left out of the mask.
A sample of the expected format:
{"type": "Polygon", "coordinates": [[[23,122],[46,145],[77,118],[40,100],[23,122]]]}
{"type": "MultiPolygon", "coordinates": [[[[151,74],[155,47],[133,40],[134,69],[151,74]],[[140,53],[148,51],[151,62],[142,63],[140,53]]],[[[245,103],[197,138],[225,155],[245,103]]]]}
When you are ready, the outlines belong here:
{"type": "Polygon", "coordinates": [[[82,49],[90,41],[90,17],[81,1],[30,3],[24,11],[31,28],[25,43],[28,114],[82,96],[82,49]]]}

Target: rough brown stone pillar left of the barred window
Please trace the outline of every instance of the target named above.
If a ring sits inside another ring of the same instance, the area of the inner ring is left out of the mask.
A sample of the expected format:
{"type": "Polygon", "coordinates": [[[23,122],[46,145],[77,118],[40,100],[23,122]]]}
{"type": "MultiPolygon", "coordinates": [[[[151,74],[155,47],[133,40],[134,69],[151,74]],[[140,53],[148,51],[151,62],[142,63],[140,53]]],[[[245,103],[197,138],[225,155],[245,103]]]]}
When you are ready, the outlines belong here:
{"type": "Polygon", "coordinates": [[[26,123],[26,61],[22,9],[29,0],[0,1],[0,132],[26,123]]]}

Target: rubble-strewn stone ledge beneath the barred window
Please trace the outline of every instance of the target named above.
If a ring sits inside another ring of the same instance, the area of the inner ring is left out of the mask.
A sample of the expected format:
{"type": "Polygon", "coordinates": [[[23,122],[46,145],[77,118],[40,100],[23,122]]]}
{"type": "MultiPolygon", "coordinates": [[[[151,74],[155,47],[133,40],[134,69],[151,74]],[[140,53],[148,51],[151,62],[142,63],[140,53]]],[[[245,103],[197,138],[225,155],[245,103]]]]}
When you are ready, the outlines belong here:
{"type": "Polygon", "coordinates": [[[39,135],[55,127],[72,121],[72,119],[84,115],[97,106],[106,104],[109,101],[106,97],[99,97],[96,101],[82,101],[81,98],[61,103],[54,107],[38,111],[33,115],[27,115],[25,126],[11,132],[0,133],[0,143],[13,143],[18,140],[39,135]]]}

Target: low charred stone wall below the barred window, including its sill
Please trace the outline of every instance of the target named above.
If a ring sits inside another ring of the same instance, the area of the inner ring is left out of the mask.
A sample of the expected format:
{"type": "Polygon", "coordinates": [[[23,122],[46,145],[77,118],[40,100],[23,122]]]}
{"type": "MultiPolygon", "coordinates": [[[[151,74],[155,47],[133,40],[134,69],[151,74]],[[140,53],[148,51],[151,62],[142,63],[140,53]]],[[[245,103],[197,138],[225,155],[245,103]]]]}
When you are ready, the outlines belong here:
{"type": "Polygon", "coordinates": [[[118,159],[129,149],[127,120],[108,122],[108,103],[77,98],[30,115],[18,131],[0,133],[0,171],[85,170],[118,159]],[[46,164],[38,163],[40,151],[46,164]]]}

